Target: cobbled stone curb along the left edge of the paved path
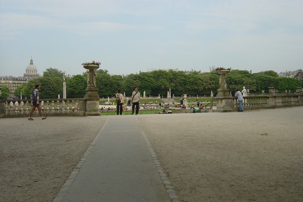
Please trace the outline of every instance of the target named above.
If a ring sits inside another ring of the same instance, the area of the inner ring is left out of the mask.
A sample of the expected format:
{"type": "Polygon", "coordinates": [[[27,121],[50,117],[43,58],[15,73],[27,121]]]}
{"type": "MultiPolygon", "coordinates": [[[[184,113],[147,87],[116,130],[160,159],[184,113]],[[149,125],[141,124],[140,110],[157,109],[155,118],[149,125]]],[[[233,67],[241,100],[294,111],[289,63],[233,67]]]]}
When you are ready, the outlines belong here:
{"type": "Polygon", "coordinates": [[[72,171],[71,175],[68,177],[68,179],[65,181],[65,183],[63,184],[63,186],[61,187],[60,191],[58,192],[58,194],[56,195],[56,197],[54,198],[53,202],[62,202],[65,194],[67,193],[69,187],[72,185],[75,177],[78,175],[81,166],[83,165],[84,161],[86,160],[88,154],[90,154],[92,148],[95,146],[95,143],[97,142],[97,140],[99,139],[103,129],[105,128],[106,124],[108,122],[108,119],[105,121],[105,123],[103,124],[101,130],[98,132],[98,134],[96,135],[95,139],[92,141],[92,143],[89,145],[89,147],[87,148],[87,150],[85,151],[85,153],[83,154],[83,156],[81,157],[79,163],[76,165],[75,169],[72,171]]]}

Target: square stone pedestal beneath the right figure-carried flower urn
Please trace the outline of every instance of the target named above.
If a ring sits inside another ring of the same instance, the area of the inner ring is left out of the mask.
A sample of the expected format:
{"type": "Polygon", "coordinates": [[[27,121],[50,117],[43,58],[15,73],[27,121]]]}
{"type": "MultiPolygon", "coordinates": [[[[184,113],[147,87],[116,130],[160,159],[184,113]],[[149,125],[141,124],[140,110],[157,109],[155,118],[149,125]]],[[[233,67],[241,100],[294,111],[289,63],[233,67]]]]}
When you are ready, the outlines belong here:
{"type": "Polygon", "coordinates": [[[213,110],[213,112],[231,112],[232,110],[232,98],[231,94],[229,94],[228,88],[219,88],[218,94],[216,97],[217,100],[217,109],[213,110]]]}

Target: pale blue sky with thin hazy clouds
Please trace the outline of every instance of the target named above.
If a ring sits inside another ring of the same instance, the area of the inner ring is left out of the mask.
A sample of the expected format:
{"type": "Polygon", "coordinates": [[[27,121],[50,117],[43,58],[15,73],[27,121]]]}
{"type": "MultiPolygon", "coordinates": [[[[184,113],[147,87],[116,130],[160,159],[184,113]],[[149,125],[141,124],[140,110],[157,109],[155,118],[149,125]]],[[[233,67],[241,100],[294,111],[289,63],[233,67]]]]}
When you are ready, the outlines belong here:
{"type": "Polygon", "coordinates": [[[0,0],[0,76],[303,68],[302,0],[0,0]]]}

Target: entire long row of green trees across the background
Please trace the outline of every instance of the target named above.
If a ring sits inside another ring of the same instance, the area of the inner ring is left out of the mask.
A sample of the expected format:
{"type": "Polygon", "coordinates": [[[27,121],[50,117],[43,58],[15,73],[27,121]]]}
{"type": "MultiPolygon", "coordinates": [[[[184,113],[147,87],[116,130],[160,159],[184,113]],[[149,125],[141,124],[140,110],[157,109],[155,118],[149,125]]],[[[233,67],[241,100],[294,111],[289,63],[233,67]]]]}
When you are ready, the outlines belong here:
{"type": "MultiPolygon", "coordinates": [[[[141,72],[140,74],[130,74],[128,78],[122,78],[120,75],[109,75],[107,70],[99,69],[96,71],[96,86],[99,89],[100,97],[113,96],[118,89],[125,92],[127,96],[132,94],[134,87],[139,91],[146,92],[146,95],[158,96],[166,95],[169,88],[175,96],[181,94],[205,95],[213,91],[216,94],[220,88],[219,77],[216,72],[206,72],[199,74],[193,72],[185,74],[184,71],[151,71],[141,72]]],[[[295,78],[279,77],[275,71],[262,71],[251,74],[246,70],[232,70],[226,75],[227,87],[234,92],[236,88],[250,89],[251,93],[261,93],[262,90],[268,92],[268,86],[273,84],[279,92],[285,92],[285,89],[296,91],[296,87],[302,86],[302,81],[295,78]]],[[[42,78],[34,78],[28,83],[19,86],[15,90],[15,96],[22,95],[29,97],[35,89],[36,84],[40,84],[40,98],[55,98],[60,94],[62,97],[62,71],[48,68],[43,72],[42,78]]],[[[76,75],[66,81],[66,96],[68,98],[80,98],[85,95],[87,87],[87,77],[76,75]]],[[[143,94],[143,93],[142,93],[143,94]]]]}

